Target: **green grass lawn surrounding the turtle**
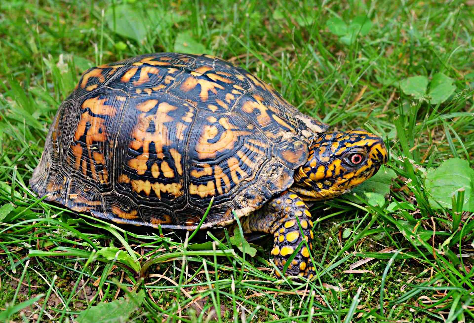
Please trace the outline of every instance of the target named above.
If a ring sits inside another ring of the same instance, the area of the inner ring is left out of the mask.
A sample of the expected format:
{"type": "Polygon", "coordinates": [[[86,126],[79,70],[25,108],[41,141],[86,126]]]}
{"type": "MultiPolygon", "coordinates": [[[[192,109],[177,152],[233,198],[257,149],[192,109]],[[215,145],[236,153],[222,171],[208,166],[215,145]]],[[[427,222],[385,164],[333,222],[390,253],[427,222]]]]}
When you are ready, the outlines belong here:
{"type": "Polygon", "coordinates": [[[0,307],[9,320],[72,322],[132,295],[143,298],[134,322],[474,322],[473,213],[433,209],[424,179],[452,157],[474,165],[472,1],[212,3],[0,2],[0,307]],[[328,27],[328,19],[349,25],[358,16],[372,26],[352,40],[328,27]],[[182,233],[127,231],[29,189],[48,126],[83,70],[175,49],[248,69],[331,129],[386,138],[397,178],[384,206],[337,198],[311,210],[323,219],[314,229],[315,280],[277,281],[265,269],[266,243],[255,257],[227,239],[192,246],[199,234],[188,245],[182,233]],[[438,72],[456,86],[441,104],[401,90],[407,77],[438,72]],[[393,201],[415,210],[389,212],[393,201]],[[400,226],[407,217],[408,231],[400,226]],[[386,248],[392,252],[380,252],[386,248]],[[199,314],[196,299],[222,316],[199,314]],[[21,302],[28,306],[13,307],[21,302]]]}

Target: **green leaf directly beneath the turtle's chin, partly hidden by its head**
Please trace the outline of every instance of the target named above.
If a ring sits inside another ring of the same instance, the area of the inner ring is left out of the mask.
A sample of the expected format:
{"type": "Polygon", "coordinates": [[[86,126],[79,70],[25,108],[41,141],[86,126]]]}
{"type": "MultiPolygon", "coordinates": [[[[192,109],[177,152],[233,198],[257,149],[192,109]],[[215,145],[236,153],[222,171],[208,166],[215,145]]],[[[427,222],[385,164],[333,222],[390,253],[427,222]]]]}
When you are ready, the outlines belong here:
{"type": "Polygon", "coordinates": [[[392,179],[396,177],[397,174],[395,174],[393,170],[382,165],[380,170],[374,176],[354,188],[350,193],[344,194],[343,197],[355,203],[359,203],[360,201],[353,195],[354,193],[366,200],[368,200],[369,197],[366,196],[365,193],[377,193],[384,197],[390,193],[392,179]]]}

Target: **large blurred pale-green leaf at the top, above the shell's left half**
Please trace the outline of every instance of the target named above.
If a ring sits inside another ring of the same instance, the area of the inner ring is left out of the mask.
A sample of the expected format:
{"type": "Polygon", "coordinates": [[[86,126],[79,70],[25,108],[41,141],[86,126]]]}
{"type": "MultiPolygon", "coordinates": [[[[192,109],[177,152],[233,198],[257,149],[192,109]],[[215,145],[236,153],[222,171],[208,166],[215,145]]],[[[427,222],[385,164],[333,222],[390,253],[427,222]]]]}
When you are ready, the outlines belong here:
{"type": "Polygon", "coordinates": [[[137,42],[142,42],[146,37],[146,26],[144,13],[137,6],[128,4],[109,6],[105,10],[105,21],[110,30],[120,36],[131,38],[137,42]]]}

